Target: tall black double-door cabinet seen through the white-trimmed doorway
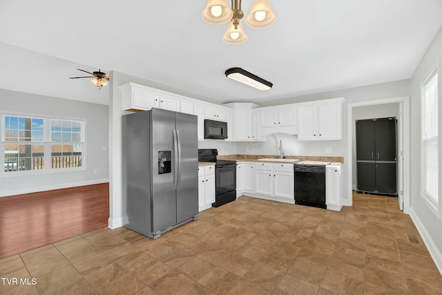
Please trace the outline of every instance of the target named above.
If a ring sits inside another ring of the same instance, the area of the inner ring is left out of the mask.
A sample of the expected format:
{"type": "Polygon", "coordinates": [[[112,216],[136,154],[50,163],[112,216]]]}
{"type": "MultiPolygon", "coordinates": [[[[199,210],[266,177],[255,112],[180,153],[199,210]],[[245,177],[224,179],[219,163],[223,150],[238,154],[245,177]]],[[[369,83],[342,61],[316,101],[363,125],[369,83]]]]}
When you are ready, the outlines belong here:
{"type": "Polygon", "coordinates": [[[356,121],[358,191],[397,195],[396,119],[356,121]]]}

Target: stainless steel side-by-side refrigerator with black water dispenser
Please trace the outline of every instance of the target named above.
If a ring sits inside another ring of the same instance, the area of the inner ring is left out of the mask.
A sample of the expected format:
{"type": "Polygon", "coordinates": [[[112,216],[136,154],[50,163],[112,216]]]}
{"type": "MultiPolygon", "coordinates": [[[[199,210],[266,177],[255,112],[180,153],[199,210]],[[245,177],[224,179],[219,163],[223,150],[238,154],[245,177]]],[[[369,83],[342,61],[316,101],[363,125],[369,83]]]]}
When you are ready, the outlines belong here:
{"type": "Polygon", "coordinates": [[[158,238],[198,219],[197,129],[197,116],[160,108],[123,116],[124,227],[158,238]]]}

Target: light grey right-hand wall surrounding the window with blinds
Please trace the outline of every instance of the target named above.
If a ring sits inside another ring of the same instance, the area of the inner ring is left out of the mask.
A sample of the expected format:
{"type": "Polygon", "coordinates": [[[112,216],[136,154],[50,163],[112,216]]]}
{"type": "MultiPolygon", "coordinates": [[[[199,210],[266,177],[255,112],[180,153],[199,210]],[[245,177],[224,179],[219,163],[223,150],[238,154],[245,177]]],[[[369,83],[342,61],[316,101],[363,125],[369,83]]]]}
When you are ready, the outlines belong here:
{"type": "MultiPolygon", "coordinates": [[[[436,218],[421,198],[421,82],[432,73],[439,62],[439,115],[442,93],[442,27],[421,59],[411,79],[411,178],[412,200],[410,215],[425,240],[425,244],[442,274],[442,220],[436,218]]],[[[439,126],[441,120],[439,120],[439,126]]],[[[440,134],[440,133],[439,133],[440,134]]],[[[440,161],[441,159],[439,159],[440,161]]],[[[439,180],[441,175],[439,175],[439,180]]],[[[439,184],[441,185],[441,184],[439,184]]],[[[440,200],[440,196],[439,196],[440,200]]]]}

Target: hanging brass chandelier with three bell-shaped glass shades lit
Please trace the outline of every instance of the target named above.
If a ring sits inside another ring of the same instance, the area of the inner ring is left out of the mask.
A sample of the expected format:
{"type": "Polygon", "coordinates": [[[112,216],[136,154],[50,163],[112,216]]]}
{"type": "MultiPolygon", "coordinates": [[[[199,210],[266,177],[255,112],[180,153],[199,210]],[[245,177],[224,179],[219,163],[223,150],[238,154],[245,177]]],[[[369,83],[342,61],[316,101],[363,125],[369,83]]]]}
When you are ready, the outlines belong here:
{"type": "MultiPolygon", "coordinates": [[[[207,0],[206,8],[202,11],[202,19],[206,23],[220,25],[227,23],[226,33],[222,41],[228,44],[240,44],[247,40],[247,35],[242,29],[240,19],[244,17],[241,10],[241,0],[232,0],[232,8],[227,5],[227,0],[207,0]]],[[[269,0],[254,0],[251,11],[246,17],[246,23],[251,28],[267,28],[276,21],[276,15],[271,11],[269,0]]]]}

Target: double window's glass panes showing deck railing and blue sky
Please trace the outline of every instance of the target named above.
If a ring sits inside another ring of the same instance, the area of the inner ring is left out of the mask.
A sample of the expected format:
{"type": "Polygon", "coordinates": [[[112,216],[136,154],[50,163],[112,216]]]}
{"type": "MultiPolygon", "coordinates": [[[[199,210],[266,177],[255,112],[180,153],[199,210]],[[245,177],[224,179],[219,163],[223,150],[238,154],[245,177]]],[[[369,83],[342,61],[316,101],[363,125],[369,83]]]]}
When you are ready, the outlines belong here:
{"type": "Polygon", "coordinates": [[[83,120],[3,115],[2,122],[4,173],[84,166],[83,120]]]}

